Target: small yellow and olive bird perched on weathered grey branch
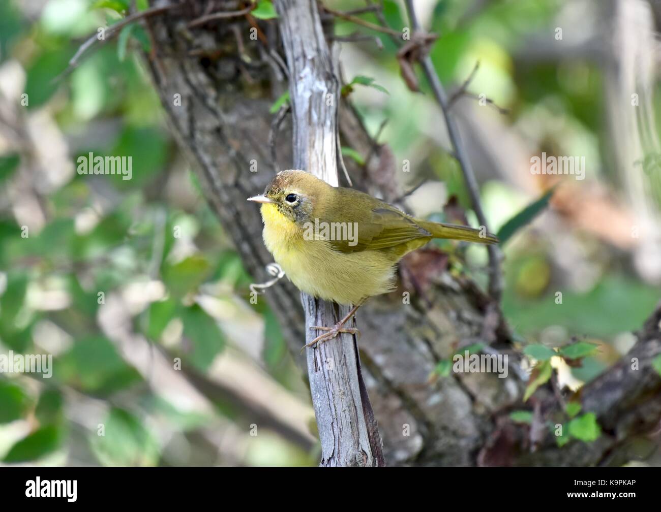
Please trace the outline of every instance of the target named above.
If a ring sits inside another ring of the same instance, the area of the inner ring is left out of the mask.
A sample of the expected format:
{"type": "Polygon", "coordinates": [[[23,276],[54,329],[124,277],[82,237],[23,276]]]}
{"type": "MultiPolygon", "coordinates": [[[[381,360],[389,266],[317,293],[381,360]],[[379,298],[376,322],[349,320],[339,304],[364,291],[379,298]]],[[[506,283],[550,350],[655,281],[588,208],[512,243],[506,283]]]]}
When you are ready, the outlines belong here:
{"type": "MultiPolygon", "coordinates": [[[[395,264],[432,238],[494,244],[483,230],[415,219],[358,190],[333,187],[304,170],[283,170],[263,195],[264,244],[292,283],[327,301],[353,305],[305,347],[331,340],[358,307],[394,288],[395,264]]],[[[304,347],[304,348],[305,348],[304,347]]]]}

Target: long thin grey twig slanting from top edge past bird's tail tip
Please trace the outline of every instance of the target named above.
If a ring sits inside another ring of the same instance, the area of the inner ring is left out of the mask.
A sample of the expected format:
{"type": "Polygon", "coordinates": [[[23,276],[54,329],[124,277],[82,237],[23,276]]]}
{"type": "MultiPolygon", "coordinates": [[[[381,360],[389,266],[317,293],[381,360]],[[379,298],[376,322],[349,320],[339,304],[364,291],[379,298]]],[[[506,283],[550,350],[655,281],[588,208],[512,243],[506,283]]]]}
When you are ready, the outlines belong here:
{"type": "MultiPolygon", "coordinates": [[[[413,0],[406,0],[408,18],[411,22],[414,32],[420,32],[420,22],[416,17],[415,8],[413,6],[413,0]]],[[[473,168],[468,159],[468,154],[466,149],[461,142],[461,137],[459,135],[459,127],[455,122],[454,118],[449,114],[449,104],[447,102],[447,94],[443,85],[441,84],[436,70],[434,69],[434,63],[429,54],[424,54],[420,56],[420,64],[422,65],[422,70],[424,75],[429,82],[432,91],[434,92],[434,97],[438,102],[444,119],[446,121],[447,135],[449,136],[450,142],[454,149],[455,157],[457,162],[461,166],[463,171],[464,180],[466,182],[466,188],[471,196],[471,201],[473,202],[473,210],[475,210],[475,215],[477,215],[477,220],[479,223],[485,227],[486,231],[489,231],[488,225],[486,223],[485,212],[482,209],[482,203],[480,201],[479,187],[477,185],[477,180],[475,179],[475,174],[473,173],[473,168]]],[[[489,255],[489,295],[498,301],[502,293],[502,276],[500,275],[500,260],[502,258],[502,253],[496,245],[488,245],[487,247],[489,255]]]]}

